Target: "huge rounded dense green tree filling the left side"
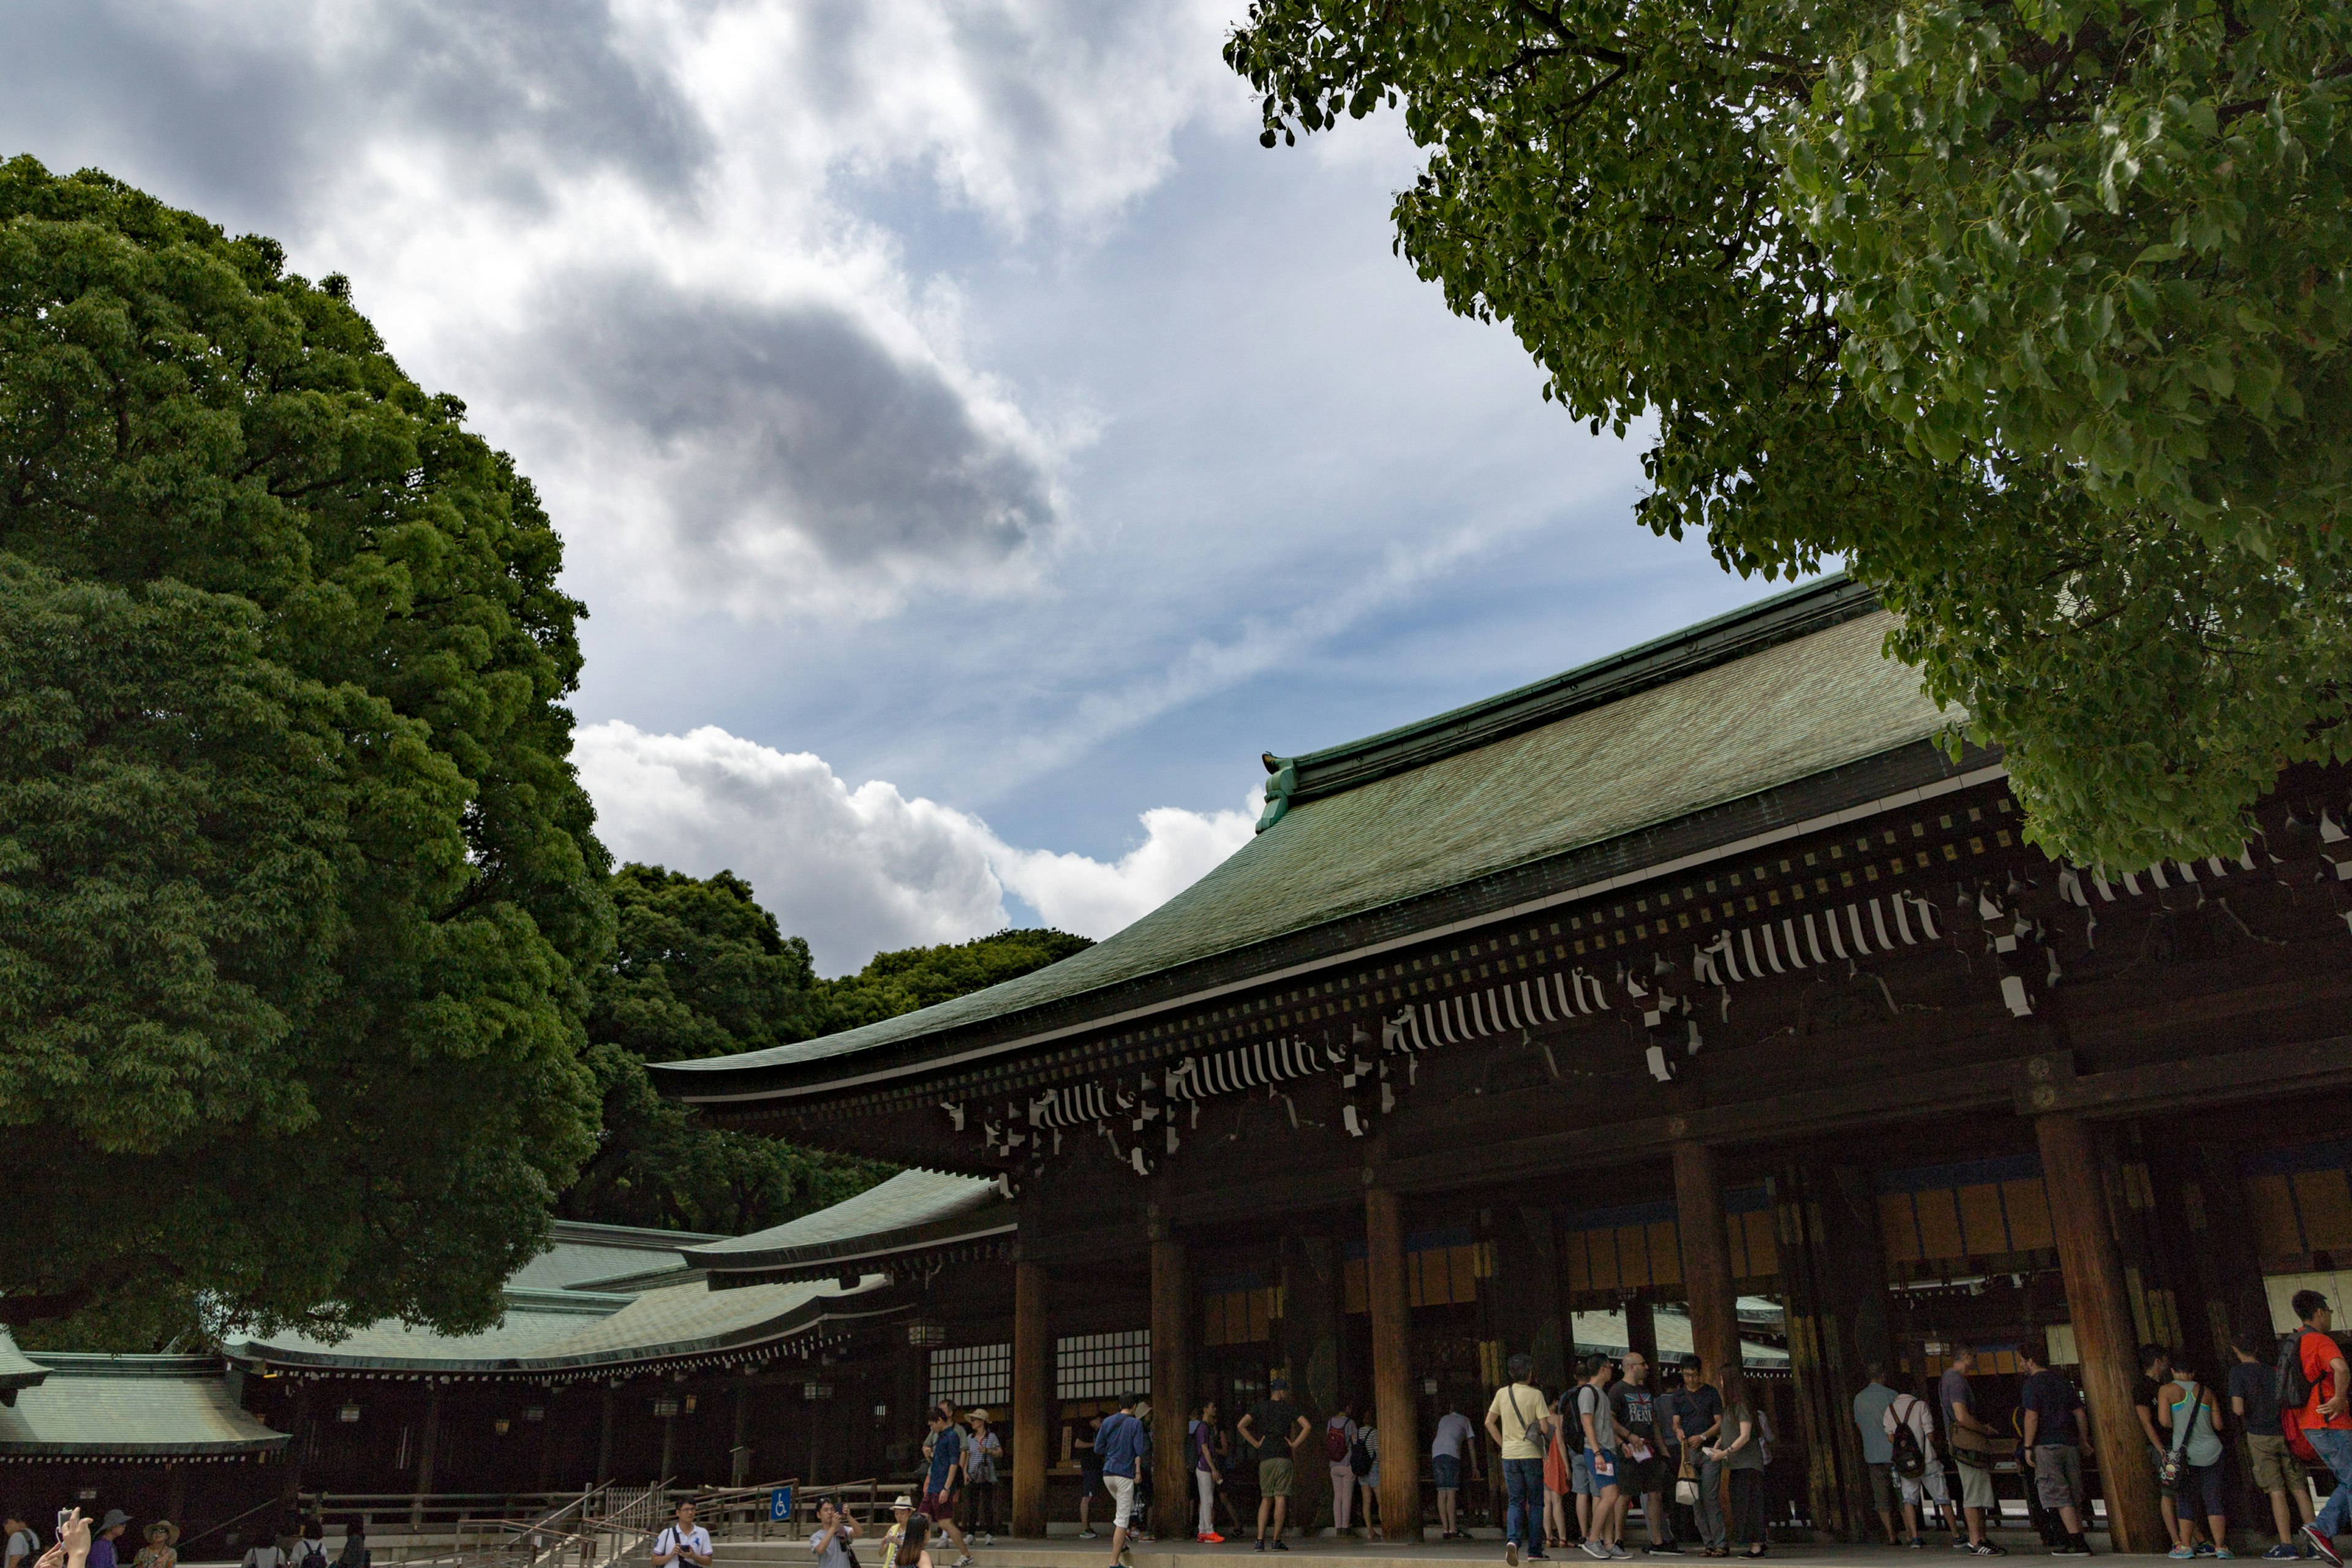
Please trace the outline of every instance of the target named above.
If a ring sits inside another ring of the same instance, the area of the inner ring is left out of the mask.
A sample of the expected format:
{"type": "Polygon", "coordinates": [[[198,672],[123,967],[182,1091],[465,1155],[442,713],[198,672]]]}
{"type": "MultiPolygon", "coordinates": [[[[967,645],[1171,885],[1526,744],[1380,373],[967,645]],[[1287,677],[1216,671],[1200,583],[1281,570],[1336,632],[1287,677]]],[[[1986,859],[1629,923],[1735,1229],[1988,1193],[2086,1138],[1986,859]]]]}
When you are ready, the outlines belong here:
{"type": "Polygon", "coordinates": [[[557,567],[339,277],[0,165],[0,1321],[499,1314],[612,945],[557,567]]]}

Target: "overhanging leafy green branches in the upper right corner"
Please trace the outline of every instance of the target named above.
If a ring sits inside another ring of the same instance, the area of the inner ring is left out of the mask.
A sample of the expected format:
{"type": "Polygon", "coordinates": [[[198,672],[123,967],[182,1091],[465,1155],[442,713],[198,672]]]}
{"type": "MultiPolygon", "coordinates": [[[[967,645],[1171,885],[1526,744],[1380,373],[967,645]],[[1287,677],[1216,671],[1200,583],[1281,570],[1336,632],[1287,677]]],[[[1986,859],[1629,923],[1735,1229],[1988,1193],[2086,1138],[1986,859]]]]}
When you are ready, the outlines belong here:
{"type": "Polygon", "coordinates": [[[2237,851],[2347,752],[2352,9],[1256,0],[1265,143],[1402,106],[1397,247],[1639,515],[1842,555],[2030,835],[2237,851]]]}

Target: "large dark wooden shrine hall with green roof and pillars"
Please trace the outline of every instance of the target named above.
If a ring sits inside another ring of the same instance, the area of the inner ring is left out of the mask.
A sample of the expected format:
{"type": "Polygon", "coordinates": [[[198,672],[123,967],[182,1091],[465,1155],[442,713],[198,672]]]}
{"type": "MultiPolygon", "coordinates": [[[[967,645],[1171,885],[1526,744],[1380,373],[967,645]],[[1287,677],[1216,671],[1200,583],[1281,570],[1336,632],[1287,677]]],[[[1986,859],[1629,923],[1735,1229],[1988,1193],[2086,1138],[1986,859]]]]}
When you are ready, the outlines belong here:
{"type": "MultiPolygon", "coordinates": [[[[1101,945],[656,1065],[713,1124],[964,1178],[901,1178],[943,1213],[889,1246],[689,1262],[887,1279],[903,1316],[842,1373],[901,1425],[915,1389],[1009,1406],[1030,1535],[1117,1394],[1185,1497],[1176,1415],[1272,1375],[1369,1413],[1418,1521],[1435,1420],[1522,1349],[1545,1389],[1581,1349],[1738,1356],[1776,1519],[1828,1537],[1870,1521],[1867,1361],[1926,1389],[1976,1347],[2006,1420],[2037,1347],[2136,1458],[2140,1342],[2218,1378],[2352,1284],[2352,773],[2288,769],[2237,858],[2053,863],[1891,625],[1825,578],[1268,757],[1256,839],[1101,945]]],[[[2150,1467],[2098,1486],[2161,1549],[2150,1467]]]]}

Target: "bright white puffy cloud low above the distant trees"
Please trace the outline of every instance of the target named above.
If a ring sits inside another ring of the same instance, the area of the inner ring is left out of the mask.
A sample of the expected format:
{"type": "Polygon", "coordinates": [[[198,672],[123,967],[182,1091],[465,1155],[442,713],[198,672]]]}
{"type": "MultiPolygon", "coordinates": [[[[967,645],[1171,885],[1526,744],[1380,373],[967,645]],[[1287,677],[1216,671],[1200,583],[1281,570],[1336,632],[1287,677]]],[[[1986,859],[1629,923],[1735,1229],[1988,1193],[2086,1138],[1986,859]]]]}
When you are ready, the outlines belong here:
{"type": "Polygon", "coordinates": [[[717,726],[659,736],[588,724],[574,759],[614,856],[750,879],[826,973],[889,947],[1000,931],[1007,891],[1051,926],[1110,936],[1247,844],[1254,823],[1247,809],[1160,806],[1141,818],[1143,842],[1105,863],[1014,849],[967,811],[908,799],[880,778],[849,788],[823,757],[717,726]]]}

